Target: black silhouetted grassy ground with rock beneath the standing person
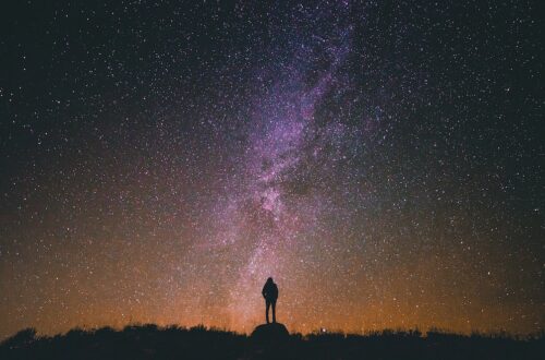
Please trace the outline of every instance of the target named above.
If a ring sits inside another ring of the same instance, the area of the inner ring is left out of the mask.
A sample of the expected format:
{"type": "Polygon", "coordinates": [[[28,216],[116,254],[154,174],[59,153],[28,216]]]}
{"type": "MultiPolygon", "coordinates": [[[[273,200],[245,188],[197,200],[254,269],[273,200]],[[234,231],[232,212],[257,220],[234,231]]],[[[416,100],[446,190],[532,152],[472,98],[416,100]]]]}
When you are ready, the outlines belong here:
{"type": "Polygon", "coordinates": [[[545,336],[463,336],[384,331],[289,334],[259,325],[251,336],[197,326],[131,325],[37,337],[24,329],[0,344],[0,359],[544,359],[545,336]]]}

